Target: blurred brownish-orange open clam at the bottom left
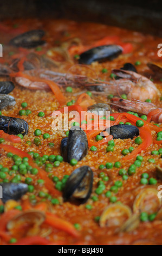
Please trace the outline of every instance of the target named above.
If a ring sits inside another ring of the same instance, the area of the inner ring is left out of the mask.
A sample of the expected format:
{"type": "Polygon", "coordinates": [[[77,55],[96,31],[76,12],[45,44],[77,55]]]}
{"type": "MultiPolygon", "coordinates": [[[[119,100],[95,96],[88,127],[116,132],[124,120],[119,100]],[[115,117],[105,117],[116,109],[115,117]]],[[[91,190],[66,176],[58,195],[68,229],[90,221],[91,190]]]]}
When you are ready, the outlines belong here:
{"type": "Polygon", "coordinates": [[[46,215],[43,211],[26,210],[14,216],[8,222],[7,229],[12,235],[14,235],[16,230],[21,230],[21,232],[25,232],[26,235],[37,235],[40,231],[39,227],[45,219],[46,215]],[[28,226],[26,230],[22,228],[24,224],[28,226]]]}

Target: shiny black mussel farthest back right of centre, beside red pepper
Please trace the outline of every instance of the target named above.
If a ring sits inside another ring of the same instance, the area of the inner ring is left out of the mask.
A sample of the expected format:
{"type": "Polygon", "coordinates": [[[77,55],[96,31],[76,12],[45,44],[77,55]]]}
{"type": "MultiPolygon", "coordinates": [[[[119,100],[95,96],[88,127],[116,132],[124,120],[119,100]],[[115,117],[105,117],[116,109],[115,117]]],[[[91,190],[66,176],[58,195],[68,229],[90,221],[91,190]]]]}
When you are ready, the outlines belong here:
{"type": "Polygon", "coordinates": [[[122,47],[119,45],[103,45],[92,48],[80,55],[80,64],[91,64],[92,62],[101,62],[112,60],[122,53],[122,47]]]}

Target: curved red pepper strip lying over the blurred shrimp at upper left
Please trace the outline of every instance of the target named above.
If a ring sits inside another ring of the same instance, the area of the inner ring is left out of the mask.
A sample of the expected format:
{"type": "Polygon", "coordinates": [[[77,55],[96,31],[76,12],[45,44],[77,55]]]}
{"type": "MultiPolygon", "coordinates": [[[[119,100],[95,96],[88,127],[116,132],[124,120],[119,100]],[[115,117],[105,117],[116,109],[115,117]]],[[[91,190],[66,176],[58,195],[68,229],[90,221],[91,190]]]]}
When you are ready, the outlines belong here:
{"type": "Polygon", "coordinates": [[[55,94],[56,99],[59,101],[60,105],[65,105],[66,103],[66,98],[64,97],[64,95],[62,94],[59,86],[57,86],[57,84],[53,81],[50,80],[46,80],[43,78],[39,78],[39,77],[34,77],[34,76],[29,76],[27,74],[23,74],[22,72],[17,72],[15,74],[10,74],[10,76],[15,77],[24,77],[29,79],[32,82],[44,82],[47,83],[48,86],[50,87],[50,89],[53,91],[53,93],[55,94]]]}

